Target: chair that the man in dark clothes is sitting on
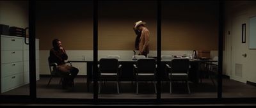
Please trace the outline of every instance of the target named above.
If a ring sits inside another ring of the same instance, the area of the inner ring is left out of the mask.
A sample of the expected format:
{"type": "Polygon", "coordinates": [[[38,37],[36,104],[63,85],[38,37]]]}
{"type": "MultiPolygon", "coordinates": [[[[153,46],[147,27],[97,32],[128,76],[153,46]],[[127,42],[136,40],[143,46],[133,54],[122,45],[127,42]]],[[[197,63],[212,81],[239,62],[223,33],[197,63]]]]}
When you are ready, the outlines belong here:
{"type": "MultiPolygon", "coordinates": [[[[60,76],[56,73],[56,68],[57,68],[58,64],[57,64],[57,63],[50,63],[49,61],[50,61],[50,57],[48,57],[48,65],[49,65],[49,69],[50,69],[50,73],[51,73],[51,78],[49,79],[49,82],[48,82],[47,86],[49,86],[49,84],[50,84],[50,82],[51,82],[51,80],[52,80],[52,77],[60,77],[60,76]]],[[[72,66],[72,63],[70,63],[70,62],[66,62],[66,63],[68,63],[68,64],[70,64],[70,66],[72,66]]],[[[59,82],[59,84],[61,84],[61,81],[62,81],[62,80],[63,80],[62,77],[60,77],[60,82],[59,82]]],[[[74,82],[72,82],[72,83],[73,83],[73,85],[74,85],[74,82]]]]}

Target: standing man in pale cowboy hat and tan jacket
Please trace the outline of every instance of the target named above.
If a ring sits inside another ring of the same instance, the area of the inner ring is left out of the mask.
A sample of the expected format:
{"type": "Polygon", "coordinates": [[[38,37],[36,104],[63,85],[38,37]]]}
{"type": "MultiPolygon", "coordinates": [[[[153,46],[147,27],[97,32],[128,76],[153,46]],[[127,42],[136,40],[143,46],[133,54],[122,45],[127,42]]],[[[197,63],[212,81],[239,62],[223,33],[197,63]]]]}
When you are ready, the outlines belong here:
{"type": "Polygon", "coordinates": [[[145,57],[147,57],[147,54],[149,53],[149,31],[147,29],[147,27],[145,27],[146,22],[143,21],[138,21],[135,22],[134,24],[134,31],[137,31],[140,34],[140,41],[138,43],[138,49],[140,51],[139,55],[144,55],[145,57]]]}

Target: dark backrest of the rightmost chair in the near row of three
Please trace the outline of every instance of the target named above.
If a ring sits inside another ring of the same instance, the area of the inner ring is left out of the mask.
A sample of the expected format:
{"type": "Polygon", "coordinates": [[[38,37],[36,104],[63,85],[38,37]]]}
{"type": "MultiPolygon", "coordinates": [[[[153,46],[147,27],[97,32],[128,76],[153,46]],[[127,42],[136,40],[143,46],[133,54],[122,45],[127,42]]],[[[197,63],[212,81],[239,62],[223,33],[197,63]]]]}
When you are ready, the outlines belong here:
{"type": "Polygon", "coordinates": [[[170,63],[172,67],[172,73],[188,73],[189,59],[172,59],[170,63]]]}

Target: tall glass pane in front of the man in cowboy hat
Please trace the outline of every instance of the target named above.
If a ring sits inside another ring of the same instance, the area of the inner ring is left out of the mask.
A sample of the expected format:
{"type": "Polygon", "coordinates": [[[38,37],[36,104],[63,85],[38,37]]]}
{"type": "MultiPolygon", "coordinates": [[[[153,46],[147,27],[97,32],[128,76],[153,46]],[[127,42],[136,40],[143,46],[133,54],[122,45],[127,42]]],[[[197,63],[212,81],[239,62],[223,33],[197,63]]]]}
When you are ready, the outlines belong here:
{"type": "MultiPolygon", "coordinates": [[[[149,53],[145,54],[147,54],[147,58],[154,58],[156,57],[157,38],[156,1],[99,1],[98,58],[100,60],[118,57],[118,63],[122,65],[118,79],[104,79],[104,70],[100,71],[102,74],[99,77],[99,98],[156,98],[154,70],[150,73],[149,78],[140,76],[138,86],[136,86],[138,74],[136,74],[134,65],[138,66],[138,64],[137,60],[132,60],[132,56],[140,54],[139,49],[142,50],[142,45],[145,45],[145,42],[141,42],[141,47],[135,49],[137,35],[133,28],[135,25],[138,27],[141,24],[144,24],[143,29],[140,27],[139,31],[144,33],[141,41],[148,42],[149,40],[149,47],[144,50],[147,52],[149,49],[149,53]],[[138,22],[140,20],[141,22],[138,22]],[[135,24],[136,22],[138,25],[135,24]],[[136,89],[138,89],[138,93],[136,89]]],[[[138,36],[142,37],[142,35],[138,36]]],[[[99,65],[99,68],[101,69],[102,65],[99,65]]]]}

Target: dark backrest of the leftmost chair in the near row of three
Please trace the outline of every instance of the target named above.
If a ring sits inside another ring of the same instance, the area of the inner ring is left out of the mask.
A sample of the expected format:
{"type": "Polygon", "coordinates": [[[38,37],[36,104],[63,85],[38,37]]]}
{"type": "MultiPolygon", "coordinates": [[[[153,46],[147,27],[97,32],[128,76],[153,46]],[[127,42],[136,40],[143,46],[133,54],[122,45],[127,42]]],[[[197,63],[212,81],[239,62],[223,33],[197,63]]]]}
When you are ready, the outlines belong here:
{"type": "Polygon", "coordinates": [[[101,58],[99,61],[100,73],[116,73],[118,72],[118,59],[101,58]]]}

